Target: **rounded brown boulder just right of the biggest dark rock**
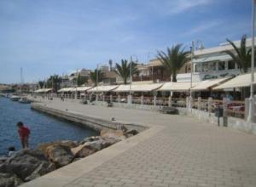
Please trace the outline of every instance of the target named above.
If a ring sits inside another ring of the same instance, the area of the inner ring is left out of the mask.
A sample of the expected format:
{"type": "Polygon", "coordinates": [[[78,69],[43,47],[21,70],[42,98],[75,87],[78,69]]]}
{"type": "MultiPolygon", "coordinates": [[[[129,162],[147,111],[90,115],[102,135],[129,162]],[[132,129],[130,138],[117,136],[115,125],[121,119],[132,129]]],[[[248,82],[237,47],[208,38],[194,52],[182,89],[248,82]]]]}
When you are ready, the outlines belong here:
{"type": "Polygon", "coordinates": [[[55,164],[55,167],[64,167],[73,161],[73,154],[66,145],[53,144],[46,148],[46,156],[49,161],[55,164]]]}

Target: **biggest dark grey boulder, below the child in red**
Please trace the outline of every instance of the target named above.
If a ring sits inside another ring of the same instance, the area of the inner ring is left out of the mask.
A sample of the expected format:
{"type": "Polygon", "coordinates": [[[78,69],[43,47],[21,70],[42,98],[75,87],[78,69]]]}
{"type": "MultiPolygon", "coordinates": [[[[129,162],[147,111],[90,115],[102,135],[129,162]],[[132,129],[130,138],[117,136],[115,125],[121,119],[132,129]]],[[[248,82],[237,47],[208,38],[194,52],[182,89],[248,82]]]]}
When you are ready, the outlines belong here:
{"type": "Polygon", "coordinates": [[[55,170],[55,166],[50,163],[39,150],[20,150],[0,165],[0,173],[15,173],[23,181],[28,181],[33,176],[42,176],[55,170]]]}

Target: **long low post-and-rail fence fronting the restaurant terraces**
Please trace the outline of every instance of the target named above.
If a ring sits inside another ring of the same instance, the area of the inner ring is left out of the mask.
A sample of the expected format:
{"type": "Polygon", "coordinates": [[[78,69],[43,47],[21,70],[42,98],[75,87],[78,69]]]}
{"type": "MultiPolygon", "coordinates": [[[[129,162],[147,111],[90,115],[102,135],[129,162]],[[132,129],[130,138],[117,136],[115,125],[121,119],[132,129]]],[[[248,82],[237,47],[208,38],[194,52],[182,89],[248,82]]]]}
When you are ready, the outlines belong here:
{"type": "MultiPolygon", "coordinates": [[[[75,94],[44,94],[42,97],[47,99],[48,97],[61,98],[64,99],[75,99],[75,94]]],[[[82,97],[77,96],[77,99],[90,99],[90,94],[85,94],[82,97]]],[[[119,103],[128,103],[128,96],[120,95],[99,95],[98,101],[112,101],[119,103]]],[[[172,107],[187,107],[187,99],[184,98],[168,98],[168,97],[147,97],[147,96],[132,96],[131,103],[137,105],[155,105],[155,106],[168,106],[172,107]]],[[[192,108],[198,111],[207,111],[208,113],[215,112],[218,108],[224,109],[224,116],[233,116],[237,118],[245,118],[245,101],[233,100],[229,101],[228,99],[192,99],[191,103],[192,108]]]]}

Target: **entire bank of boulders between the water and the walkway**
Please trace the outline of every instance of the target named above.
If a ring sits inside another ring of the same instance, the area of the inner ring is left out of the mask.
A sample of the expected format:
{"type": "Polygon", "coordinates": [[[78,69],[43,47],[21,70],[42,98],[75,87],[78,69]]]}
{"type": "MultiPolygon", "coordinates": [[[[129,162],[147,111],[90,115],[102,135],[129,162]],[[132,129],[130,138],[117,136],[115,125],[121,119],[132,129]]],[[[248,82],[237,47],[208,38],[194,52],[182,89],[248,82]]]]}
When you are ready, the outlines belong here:
{"type": "Polygon", "coordinates": [[[82,141],[60,140],[38,144],[34,150],[19,150],[0,162],[0,187],[15,187],[64,167],[102,150],[122,139],[136,135],[137,130],[102,130],[100,136],[82,141]]]}

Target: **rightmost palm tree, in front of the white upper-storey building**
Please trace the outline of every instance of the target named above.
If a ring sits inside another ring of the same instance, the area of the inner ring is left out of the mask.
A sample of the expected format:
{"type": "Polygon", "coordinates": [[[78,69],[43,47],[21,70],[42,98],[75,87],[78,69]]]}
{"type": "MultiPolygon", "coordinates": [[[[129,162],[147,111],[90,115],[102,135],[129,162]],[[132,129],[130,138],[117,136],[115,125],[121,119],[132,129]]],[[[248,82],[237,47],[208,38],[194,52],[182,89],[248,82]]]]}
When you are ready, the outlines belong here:
{"type": "Polygon", "coordinates": [[[240,42],[240,48],[237,48],[235,43],[227,39],[227,41],[230,43],[230,45],[235,50],[235,53],[233,53],[230,50],[225,50],[225,54],[229,54],[231,58],[236,62],[236,65],[240,68],[240,71],[243,73],[246,73],[248,71],[248,68],[250,67],[250,61],[252,57],[252,48],[249,48],[247,50],[247,36],[243,35],[241,37],[240,42]]]}

